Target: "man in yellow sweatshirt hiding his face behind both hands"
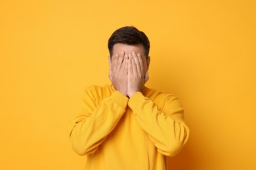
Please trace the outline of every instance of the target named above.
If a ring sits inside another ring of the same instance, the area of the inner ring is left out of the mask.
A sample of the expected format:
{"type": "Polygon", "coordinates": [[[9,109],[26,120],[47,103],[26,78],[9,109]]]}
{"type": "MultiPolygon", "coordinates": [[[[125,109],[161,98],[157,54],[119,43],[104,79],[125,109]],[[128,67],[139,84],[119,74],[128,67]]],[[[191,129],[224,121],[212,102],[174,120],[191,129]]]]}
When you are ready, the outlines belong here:
{"type": "Polygon", "coordinates": [[[108,40],[112,85],[85,90],[72,122],[70,143],[87,156],[86,169],[167,169],[189,129],[179,99],[144,86],[150,64],[148,37],[121,27],[108,40]]]}

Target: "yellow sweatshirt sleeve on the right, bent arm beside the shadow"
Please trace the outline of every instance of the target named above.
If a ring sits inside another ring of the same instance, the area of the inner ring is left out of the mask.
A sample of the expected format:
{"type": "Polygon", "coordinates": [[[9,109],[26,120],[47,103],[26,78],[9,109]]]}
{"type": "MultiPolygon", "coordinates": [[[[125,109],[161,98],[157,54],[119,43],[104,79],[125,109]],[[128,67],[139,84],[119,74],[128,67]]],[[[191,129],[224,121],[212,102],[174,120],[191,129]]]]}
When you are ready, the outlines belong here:
{"type": "Polygon", "coordinates": [[[140,92],[131,96],[128,103],[140,127],[148,133],[158,152],[175,156],[188,140],[189,129],[179,99],[173,95],[164,98],[162,108],[140,92]]]}

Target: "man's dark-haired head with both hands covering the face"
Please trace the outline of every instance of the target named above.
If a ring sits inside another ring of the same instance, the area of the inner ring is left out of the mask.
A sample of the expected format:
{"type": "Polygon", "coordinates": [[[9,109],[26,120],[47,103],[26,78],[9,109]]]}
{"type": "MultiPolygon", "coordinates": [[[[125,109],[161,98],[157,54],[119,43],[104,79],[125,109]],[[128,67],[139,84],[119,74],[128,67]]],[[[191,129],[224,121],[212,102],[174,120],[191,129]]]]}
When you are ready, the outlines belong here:
{"type": "Polygon", "coordinates": [[[108,40],[109,78],[114,88],[131,97],[141,92],[148,80],[148,37],[136,27],[121,27],[108,40]]]}

